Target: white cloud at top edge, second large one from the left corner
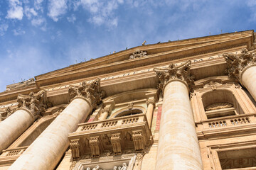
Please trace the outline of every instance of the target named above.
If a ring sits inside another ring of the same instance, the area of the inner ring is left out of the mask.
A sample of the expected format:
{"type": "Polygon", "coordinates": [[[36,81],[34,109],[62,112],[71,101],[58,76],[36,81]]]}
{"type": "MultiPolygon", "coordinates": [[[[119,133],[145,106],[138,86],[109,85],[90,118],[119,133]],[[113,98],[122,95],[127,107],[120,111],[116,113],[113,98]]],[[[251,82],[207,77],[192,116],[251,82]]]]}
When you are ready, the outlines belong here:
{"type": "Polygon", "coordinates": [[[48,16],[57,22],[68,9],[66,0],[50,0],[48,4],[48,16]]]}

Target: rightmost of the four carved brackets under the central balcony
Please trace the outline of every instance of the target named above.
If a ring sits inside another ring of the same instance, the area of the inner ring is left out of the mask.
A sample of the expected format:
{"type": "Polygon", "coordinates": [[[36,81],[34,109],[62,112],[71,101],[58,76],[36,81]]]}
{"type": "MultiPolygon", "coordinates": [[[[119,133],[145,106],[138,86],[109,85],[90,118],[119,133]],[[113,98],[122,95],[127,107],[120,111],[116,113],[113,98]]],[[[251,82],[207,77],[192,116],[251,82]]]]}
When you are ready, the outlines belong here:
{"type": "Polygon", "coordinates": [[[142,130],[132,131],[132,139],[134,141],[135,151],[143,152],[145,149],[145,142],[142,130]]]}

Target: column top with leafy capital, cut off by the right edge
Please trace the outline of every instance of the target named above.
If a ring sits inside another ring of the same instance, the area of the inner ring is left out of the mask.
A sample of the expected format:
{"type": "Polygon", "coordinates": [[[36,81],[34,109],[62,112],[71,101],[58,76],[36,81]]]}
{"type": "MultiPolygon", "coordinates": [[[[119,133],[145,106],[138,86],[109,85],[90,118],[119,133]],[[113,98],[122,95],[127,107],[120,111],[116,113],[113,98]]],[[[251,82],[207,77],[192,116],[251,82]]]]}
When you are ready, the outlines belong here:
{"type": "Polygon", "coordinates": [[[242,49],[238,54],[224,53],[228,75],[240,82],[256,101],[256,50],[242,49]]]}

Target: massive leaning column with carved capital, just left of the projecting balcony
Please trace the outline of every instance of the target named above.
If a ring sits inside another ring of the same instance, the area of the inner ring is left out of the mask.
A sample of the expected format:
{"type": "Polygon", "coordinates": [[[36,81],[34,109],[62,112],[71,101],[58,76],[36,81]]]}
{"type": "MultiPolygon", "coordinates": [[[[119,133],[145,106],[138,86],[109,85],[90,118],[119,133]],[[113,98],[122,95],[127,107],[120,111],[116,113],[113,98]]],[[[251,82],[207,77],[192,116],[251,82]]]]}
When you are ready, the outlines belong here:
{"type": "Polygon", "coordinates": [[[90,84],[70,86],[73,100],[53,123],[26,149],[9,169],[54,169],[68,148],[68,134],[83,123],[92,109],[100,103],[104,93],[100,91],[100,79],[90,84]]]}

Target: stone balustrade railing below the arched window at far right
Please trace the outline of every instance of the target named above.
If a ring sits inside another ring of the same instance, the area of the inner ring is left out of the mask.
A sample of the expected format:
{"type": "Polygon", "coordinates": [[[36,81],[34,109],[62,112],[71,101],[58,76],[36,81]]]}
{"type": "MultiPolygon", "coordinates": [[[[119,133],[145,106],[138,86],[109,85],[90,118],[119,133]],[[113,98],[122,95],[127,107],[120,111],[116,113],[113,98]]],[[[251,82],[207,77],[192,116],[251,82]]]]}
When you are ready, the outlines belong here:
{"type": "Polygon", "coordinates": [[[197,130],[215,129],[215,128],[229,128],[236,125],[248,125],[256,123],[256,113],[232,115],[227,117],[213,118],[210,120],[202,120],[197,122],[197,130]]]}

